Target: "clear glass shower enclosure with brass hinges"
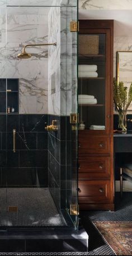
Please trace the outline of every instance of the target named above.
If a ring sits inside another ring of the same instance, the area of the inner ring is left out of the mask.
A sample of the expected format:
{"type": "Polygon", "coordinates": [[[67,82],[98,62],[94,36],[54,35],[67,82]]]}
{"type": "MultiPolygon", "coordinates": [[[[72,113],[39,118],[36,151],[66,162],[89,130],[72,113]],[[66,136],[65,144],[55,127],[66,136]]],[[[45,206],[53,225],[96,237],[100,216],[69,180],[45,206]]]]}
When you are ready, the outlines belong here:
{"type": "Polygon", "coordinates": [[[78,227],[77,2],[0,3],[1,230],[78,227]]]}

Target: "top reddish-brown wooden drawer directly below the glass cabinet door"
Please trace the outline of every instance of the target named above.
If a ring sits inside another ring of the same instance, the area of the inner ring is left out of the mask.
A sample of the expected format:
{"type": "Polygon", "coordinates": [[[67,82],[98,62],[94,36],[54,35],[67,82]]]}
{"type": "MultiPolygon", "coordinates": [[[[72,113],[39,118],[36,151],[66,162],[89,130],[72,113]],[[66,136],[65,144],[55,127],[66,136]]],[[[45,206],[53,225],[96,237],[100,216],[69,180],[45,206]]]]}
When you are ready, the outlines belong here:
{"type": "Polygon", "coordinates": [[[110,137],[106,136],[86,136],[79,135],[78,144],[79,154],[87,153],[109,153],[110,152],[110,137]]]}

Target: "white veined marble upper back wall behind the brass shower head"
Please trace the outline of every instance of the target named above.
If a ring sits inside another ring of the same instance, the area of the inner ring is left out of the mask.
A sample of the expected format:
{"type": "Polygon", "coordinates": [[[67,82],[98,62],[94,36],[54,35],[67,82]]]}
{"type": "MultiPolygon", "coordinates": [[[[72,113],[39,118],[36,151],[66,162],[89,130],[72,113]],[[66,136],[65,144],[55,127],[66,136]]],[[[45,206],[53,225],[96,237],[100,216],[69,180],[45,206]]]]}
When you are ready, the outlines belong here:
{"type": "Polygon", "coordinates": [[[48,46],[27,48],[31,59],[17,54],[26,44],[48,43],[49,7],[0,7],[0,12],[0,78],[20,80],[20,114],[47,113],[48,46]]]}

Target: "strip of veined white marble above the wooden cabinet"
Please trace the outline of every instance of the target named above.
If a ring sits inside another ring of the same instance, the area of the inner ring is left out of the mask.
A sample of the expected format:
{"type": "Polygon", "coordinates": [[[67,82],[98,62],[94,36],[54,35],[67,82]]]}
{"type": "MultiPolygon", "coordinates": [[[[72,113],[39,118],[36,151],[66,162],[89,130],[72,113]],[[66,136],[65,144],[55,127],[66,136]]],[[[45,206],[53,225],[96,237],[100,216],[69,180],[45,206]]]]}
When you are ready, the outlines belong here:
{"type": "Polygon", "coordinates": [[[79,0],[79,9],[84,10],[132,10],[131,0],[79,0]]]}

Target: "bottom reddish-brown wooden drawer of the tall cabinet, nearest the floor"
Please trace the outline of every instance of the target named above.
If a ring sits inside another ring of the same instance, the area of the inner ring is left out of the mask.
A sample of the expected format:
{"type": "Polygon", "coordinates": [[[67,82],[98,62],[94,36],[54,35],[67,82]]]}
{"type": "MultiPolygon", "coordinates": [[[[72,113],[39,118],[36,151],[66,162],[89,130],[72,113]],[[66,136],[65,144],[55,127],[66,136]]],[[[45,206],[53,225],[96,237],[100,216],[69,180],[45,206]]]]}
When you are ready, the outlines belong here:
{"type": "Polygon", "coordinates": [[[110,202],[110,181],[79,181],[79,203],[108,203],[110,202]]]}

